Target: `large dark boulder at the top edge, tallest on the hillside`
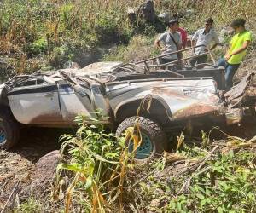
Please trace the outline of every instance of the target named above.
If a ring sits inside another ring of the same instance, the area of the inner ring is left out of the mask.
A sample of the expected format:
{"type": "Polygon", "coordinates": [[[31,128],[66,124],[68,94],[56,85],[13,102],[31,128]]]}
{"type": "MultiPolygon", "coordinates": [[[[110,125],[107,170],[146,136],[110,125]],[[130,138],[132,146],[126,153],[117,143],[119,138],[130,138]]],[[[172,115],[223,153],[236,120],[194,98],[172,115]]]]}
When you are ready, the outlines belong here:
{"type": "Polygon", "coordinates": [[[145,3],[143,3],[138,9],[138,14],[143,20],[153,22],[157,17],[154,11],[153,0],[147,0],[145,3]]]}

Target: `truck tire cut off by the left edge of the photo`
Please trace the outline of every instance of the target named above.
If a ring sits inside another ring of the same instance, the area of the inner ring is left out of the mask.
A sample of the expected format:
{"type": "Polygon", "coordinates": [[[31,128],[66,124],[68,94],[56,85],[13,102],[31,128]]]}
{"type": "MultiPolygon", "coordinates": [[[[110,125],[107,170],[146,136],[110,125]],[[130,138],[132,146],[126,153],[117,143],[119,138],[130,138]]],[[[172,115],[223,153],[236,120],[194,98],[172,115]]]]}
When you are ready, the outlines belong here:
{"type": "Polygon", "coordinates": [[[20,128],[11,112],[0,108],[0,148],[9,149],[19,141],[20,128]]]}

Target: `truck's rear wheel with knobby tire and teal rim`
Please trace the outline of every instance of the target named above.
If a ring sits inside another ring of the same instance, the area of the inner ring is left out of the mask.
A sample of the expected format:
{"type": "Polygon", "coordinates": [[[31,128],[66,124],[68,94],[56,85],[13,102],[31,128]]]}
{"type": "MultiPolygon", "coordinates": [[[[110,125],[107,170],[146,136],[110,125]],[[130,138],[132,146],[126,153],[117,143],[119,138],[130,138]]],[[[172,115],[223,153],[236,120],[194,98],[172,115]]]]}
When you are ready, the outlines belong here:
{"type": "MultiPolygon", "coordinates": [[[[116,130],[116,135],[121,136],[125,133],[125,130],[129,127],[133,127],[136,124],[136,117],[126,118],[121,124],[119,124],[116,130]]],[[[140,147],[137,147],[135,159],[138,162],[148,162],[152,158],[159,156],[167,146],[167,138],[165,132],[160,128],[158,124],[149,118],[138,118],[138,124],[142,133],[143,141],[140,147]]],[[[130,143],[129,151],[132,152],[133,143],[130,143]]]]}

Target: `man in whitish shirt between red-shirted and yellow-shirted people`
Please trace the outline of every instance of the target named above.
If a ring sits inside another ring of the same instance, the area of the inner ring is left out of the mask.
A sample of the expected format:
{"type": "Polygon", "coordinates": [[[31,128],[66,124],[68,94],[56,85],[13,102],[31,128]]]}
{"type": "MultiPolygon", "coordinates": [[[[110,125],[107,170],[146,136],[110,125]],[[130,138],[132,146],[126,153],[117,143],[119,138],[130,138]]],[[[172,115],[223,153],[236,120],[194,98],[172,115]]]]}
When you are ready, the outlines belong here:
{"type": "MultiPolygon", "coordinates": [[[[203,54],[210,48],[210,44],[213,43],[211,50],[216,48],[219,40],[218,35],[212,28],[213,20],[212,18],[207,19],[205,28],[199,29],[195,32],[192,37],[192,43],[196,41],[196,46],[205,45],[199,48],[195,48],[195,55],[203,54]]],[[[207,55],[201,55],[190,60],[190,64],[193,66],[195,64],[202,64],[207,62],[207,55]]]]}

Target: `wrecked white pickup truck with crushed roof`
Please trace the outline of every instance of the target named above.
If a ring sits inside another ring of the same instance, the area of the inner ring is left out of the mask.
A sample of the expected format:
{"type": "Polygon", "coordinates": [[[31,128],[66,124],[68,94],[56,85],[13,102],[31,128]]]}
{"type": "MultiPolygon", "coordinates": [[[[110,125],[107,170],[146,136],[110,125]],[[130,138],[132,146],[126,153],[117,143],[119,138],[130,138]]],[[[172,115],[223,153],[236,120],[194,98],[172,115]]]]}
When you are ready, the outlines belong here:
{"type": "Polygon", "coordinates": [[[188,122],[203,118],[235,124],[247,109],[254,111],[253,75],[222,97],[211,77],[183,77],[168,70],[143,73],[120,63],[15,76],[0,86],[0,147],[14,146],[22,125],[67,128],[78,114],[94,117],[98,108],[108,117],[102,123],[121,135],[135,124],[137,107],[150,95],[149,110],[138,118],[143,143],[136,158],[145,160],[161,153],[168,145],[166,135],[188,122]]]}

